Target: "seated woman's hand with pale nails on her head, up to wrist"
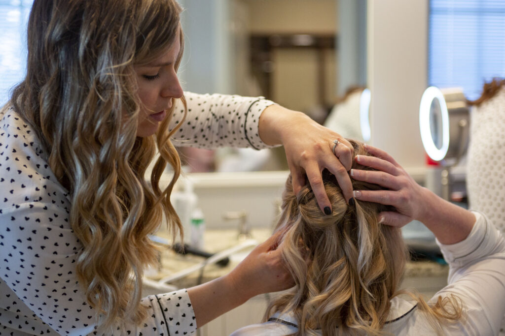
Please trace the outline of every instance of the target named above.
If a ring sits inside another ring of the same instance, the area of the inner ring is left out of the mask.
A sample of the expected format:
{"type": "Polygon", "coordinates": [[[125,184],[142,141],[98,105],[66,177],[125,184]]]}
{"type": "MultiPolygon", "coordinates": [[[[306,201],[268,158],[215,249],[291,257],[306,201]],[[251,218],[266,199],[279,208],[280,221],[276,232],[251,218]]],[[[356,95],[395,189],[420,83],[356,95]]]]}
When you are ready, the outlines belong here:
{"type": "Polygon", "coordinates": [[[373,156],[357,155],[355,160],[378,171],[351,169],[352,178],[378,184],[389,190],[355,190],[356,199],[389,205],[396,212],[379,214],[384,224],[402,227],[412,220],[423,221],[427,213],[426,203],[432,195],[414,179],[386,152],[365,145],[373,156]]]}

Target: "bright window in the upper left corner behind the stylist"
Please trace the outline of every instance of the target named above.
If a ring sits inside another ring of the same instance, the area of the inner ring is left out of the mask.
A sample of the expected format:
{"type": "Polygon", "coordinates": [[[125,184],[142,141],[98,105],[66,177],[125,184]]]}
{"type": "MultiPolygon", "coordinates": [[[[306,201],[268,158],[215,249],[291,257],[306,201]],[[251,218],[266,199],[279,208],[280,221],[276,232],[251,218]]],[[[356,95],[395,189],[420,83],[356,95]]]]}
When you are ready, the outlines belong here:
{"type": "Polygon", "coordinates": [[[26,74],[26,24],[33,0],[0,0],[0,106],[26,74]]]}

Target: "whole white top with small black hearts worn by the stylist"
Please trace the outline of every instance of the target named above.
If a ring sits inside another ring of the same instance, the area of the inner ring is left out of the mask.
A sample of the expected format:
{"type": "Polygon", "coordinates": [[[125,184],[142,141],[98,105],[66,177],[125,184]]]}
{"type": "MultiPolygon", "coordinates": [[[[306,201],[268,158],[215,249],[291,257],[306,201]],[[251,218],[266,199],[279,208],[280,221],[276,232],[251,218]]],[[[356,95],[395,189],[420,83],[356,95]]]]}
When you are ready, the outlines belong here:
{"type": "MultiPolygon", "coordinates": [[[[185,93],[189,113],[174,139],[201,147],[265,148],[254,97],[185,93]]],[[[173,126],[181,120],[176,105],[173,126]]],[[[95,334],[93,308],[75,274],[81,243],[69,225],[70,198],[30,126],[12,109],[0,115],[0,335],[95,334]]],[[[142,299],[140,325],[117,334],[184,335],[196,330],[185,289],[142,299]]]]}

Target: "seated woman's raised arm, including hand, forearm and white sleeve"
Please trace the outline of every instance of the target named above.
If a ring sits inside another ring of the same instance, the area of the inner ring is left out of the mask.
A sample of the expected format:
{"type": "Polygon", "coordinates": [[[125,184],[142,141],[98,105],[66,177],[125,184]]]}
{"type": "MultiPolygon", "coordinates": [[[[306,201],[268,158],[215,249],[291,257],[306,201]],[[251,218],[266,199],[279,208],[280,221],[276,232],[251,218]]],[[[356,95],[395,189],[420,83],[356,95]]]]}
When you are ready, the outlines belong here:
{"type": "Polygon", "coordinates": [[[418,185],[386,152],[367,146],[370,154],[356,160],[379,171],[351,170],[361,181],[376,183],[389,190],[355,191],[359,200],[391,205],[396,212],[380,216],[386,225],[401,227],[417,219],[437,238],[449,263],[448,285],[439,297],[454,295],[461,300],[463,316],[443,324],[447,334],[497,334],[505,313],[505,241],[485,216],[453,205],[418,185]]]}

